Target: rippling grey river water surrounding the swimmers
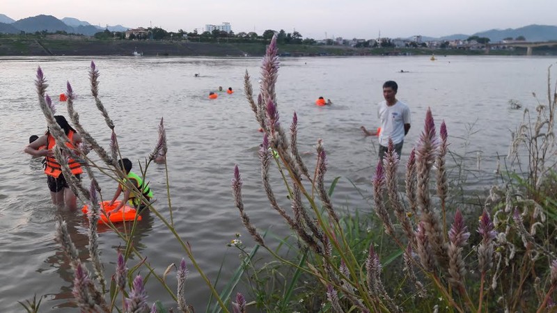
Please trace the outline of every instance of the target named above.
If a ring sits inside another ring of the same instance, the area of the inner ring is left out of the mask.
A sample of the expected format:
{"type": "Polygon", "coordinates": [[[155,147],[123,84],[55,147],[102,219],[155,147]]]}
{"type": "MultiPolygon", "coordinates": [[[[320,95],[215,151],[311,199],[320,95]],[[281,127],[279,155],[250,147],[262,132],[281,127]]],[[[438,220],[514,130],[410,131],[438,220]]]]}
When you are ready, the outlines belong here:
{"type": "MultiPolygon", "coordinates": [[[[260,59],[95,57],[94,61],[101,73],[101,99],[116,124],[120,150],[134,160],[136,172],[137,161],[152,151],[159,120],[164,117],[175,226],[212,281],[223,263],[217,289],[221,288],[239,263],[237,250],[226,244],[237,232],[247,246],[253,244],[231,195],[235,164],[240,166],[244,204],[252,222],[261,230],[286,234],[259,184],[257,152],[261,134],[242,93],[246,70],[258,90],[260,59]],[[200,76],[194,77],[194,73],[200,76]],[[224,90],[232,87],[236,92],[207,99],[218,86],[224,90]]],[[[509,99],[530,109],[537,104],[532,93],[547,102],[547,67],[556,61],[499,56],[440,56],[437,61],[427,56],[283,58],[276,86],[278,109],[285,127],[290,125],[292,113],[297,112],[299,150],[305,152],[304,159],[311,168],[315,164],[313,146],[317,138],[324,138],[329,161],[327,182],[342,177],[334,196],[338,210],[358,208],[368,212],[377,143],[375,138],[362,136],[359,127],[378,126],[375,104],[382,100],[384,81],[398,82],[398,99],[406,102],[412,113],[402,161],[420,134],[427,107],[431,107],[437,125],[446,121],[450,149],[464,156],[466,166],[476,170],[468,182],[470,187],[484,188],[494,182],[496,157],[507,154],[510,130],[521,120],[522,111],[510,109],[509,99]],[[331,99],[333,106],[315,106],[319,96],[331,99]],[[478,154],[480,170],[476,166],[478,154]]],[[[87,224],[80,213],[59,211],[52,205],[40,159],[31,159],[22,150],[29,136],[46,130],[33,84],[38,66],[47,77],[47,93],[55,99],[65,91],[66,81],[72,83],[81,122],[108,147],[110,131],[89,91],[90,62],[91,58],[73,57],[0,58],[0,134],[4,140],[0,154],[2,312],[21,312],[17,301],[32,298],[33,294],[43,297],[41,312],[75,310],[71,304],[72,273],[53,240],[54,225],[56,216],[68,221],[80,256],[87,260],[87,224]]],[[[57,113],[67,115],[64,103],[57,105],[57,113]]],[[[157,198],[155,206],[168,218],[164,166],[151,165],[148,180],[157,198]]],[[[274,181],[279,184],[276,173],[274,181]]],[[[116,184],[107,177],[100,177],[100,184],[104,198],[111,198],[116,184]]],[[[284,195],[281,201],[288,207],[284,195]]],[[[111,230],[101,228],[100,232],[101,257],[109,279],[116,250],[123,242],[111,230]]],[[[159,275],[168,264],[178,264],[186,257],[173,234],[152,214],[141,221],[134,246],[159,275]]],[[[128,267],[137,262],[132,257],[128,267]]],[[[209,291],[188,264],[186,300],[201,312],[209,291]]],[[[141,270],[143,276],[146,273],[146,269],[141,270]]],[[[175,288],[174,272],[166,280],[175,288]]],[[[161,300],[172,305],[158,284],[155,279],[147,284],[149,303],[161,300]]]]}

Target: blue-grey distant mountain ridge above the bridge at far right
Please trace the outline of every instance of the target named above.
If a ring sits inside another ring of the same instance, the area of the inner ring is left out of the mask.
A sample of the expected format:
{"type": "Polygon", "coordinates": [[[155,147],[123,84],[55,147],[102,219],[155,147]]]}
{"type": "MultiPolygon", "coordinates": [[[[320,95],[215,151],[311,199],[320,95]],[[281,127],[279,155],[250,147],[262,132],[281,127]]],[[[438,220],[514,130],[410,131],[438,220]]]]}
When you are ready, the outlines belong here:
{"type": "Polygon", "coordinates": [[[518,36],[524,36],[526,41],[549,41],[557,40],[557,26],[533,24],[519,29],[492,29],[474,35],[487,37],[491,42],[498,42],[504,38],[517,38],[518,36]]]}

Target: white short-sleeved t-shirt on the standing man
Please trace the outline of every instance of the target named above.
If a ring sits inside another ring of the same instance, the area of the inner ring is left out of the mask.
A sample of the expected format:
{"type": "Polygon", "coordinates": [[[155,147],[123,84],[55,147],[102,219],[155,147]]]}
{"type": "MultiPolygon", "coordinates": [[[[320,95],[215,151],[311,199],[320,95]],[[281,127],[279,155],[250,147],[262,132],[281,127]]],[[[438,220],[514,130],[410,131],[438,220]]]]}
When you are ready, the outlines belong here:
{"type": "Polygon", "coordinates": [[[388,106],[383,100],[377,104],[377,118],[381,122],[381,133],[379,133],[379,145],[389,145],[389,137],[397,144],[405,139],[405,124],[410,124],[410,109],[400,100],[393,106],[388,106]]]}

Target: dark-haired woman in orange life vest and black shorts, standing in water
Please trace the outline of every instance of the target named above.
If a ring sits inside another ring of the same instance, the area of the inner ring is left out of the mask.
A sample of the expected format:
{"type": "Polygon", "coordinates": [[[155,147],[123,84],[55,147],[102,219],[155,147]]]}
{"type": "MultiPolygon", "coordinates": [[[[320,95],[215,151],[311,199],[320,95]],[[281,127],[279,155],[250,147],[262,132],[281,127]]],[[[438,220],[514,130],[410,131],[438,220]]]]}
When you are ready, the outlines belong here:
{"type": "MultiPolygon", "coordinates": [[[[62,115],[54,115],[54,118],[64,131],[65,136],[68,137],[69,142],[66,143],[66,145],[70,149],[75,149],[75,147],[81,143],[81,136],[77,134],[75,129],[68,124],[68,121],[62,115]]],[[[70,186],[68,186],[68,182],[66,182],[62,174],[60,163],[54,158],[54,145],[56,145],[56,141],[52,134],[50,134],[50,131],[47,130],[44,135],[40,136],[32,143],[29,143],[29,145],[25,147],[24,152],[35,157],[45,157],[45,174],[47,175],[47,185],[50,190],[52,203],[56,205],[65,205],[68,209],[75,210],[77,208],[77,197],[70,186]]],[[[67,161],[72,174],[79,179],[79,175],[83,172],[81,164],[74,159],[68,159],[67,161]]]]}

